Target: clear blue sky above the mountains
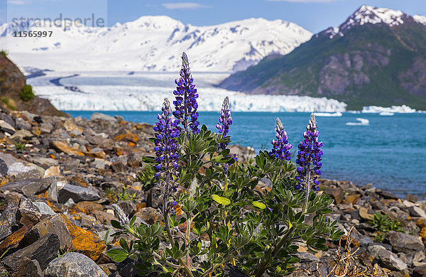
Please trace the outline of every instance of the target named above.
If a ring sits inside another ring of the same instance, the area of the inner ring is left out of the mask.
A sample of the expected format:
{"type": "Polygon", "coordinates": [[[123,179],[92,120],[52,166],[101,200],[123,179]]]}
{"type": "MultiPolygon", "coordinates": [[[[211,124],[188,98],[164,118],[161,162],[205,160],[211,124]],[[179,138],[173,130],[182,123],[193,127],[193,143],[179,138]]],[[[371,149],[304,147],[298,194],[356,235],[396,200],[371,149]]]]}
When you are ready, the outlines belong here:
{"type": "Polygon", "coordinates": [[[317,33],[338,26],[362,4],[426,15],[426,0],[0,0],[0,23],[13,17],[105,18],[109,26],[165,15],[195,26],[251,17],[291,21],[317,33]]]}

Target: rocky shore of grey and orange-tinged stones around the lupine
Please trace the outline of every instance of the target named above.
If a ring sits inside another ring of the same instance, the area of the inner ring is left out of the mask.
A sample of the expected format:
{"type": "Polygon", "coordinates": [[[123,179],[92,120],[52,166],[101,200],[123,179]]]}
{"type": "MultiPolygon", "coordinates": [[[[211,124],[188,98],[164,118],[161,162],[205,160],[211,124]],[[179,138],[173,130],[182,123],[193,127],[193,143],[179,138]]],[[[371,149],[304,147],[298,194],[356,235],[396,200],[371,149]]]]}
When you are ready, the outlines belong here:
{"type": "MultiPolygon", "coordinates": [[[[151,136],[151,125],[120,116],[1,111],[3,276],[137,276],[131,260],[114,263],[106,251],[119,245],[110,236],[113,203],[139,222],[161,219],[152,171],[141,162],[153,156],[151,136]]],[[[236,145],[231,153],[239,161],[254,155],[236,145]]],[[[329,217],[348,236],[317,254],[301,244],[302,269],[293,276],[426,276],[426,201],[349,181],[323,179],[320,188],[334,199],[329,217]]]]}

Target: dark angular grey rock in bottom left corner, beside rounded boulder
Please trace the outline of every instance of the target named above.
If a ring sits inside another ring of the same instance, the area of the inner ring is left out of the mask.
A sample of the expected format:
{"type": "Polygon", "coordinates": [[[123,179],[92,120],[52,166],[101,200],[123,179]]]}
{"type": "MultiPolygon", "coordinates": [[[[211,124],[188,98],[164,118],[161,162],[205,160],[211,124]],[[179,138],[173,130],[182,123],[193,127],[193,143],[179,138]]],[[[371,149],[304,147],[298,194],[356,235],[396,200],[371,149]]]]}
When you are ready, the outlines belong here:
{"type": "Polygon", "coordinates": [[[6,256],[2,260],[4,267],[16,271],[18,266],[22,263],[23,258],[28,257],[31,260],[37,260],[40,268],[44,270],[48,267],[50,261],[58,256],[60,249],[60,241],[56,234],[46,234],[43,238],[35,241],[30,246],[19,249],[15,253],[6,256]]]}

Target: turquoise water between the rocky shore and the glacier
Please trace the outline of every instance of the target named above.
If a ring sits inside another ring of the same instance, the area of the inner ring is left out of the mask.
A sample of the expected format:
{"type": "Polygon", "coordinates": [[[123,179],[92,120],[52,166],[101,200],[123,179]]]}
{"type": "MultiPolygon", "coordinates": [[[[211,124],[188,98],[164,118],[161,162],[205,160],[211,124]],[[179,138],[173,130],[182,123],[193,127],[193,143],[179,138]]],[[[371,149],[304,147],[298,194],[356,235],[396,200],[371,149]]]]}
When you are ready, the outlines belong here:
{"type": "MultiPolygon", "coordinates": [[[[72,116],[90,118],[92,112],[72,111],[72,116]]],[[[103,112],[123,116],[126,121],[153,124],[158,112],[103,112]]],[[[279,116],[288,132],[293,151],[302,139],[308,113],[234,112],[230,135],[234,143],[258,151],[271,147],[275,118],[279,116]]],[[[214,129],[219,113],[200,112],[200,122],[214,129]]],[[[426,193],[426,114],[349,114],[317,116],[320,140],[324,141],[323,176],[351,180],[399,196],[426,193]],[[368,126],[349,126],[356,118],[368,119],[368,126]]],[[[216,130],[216,129],[214,129],[216,130]]]]}

